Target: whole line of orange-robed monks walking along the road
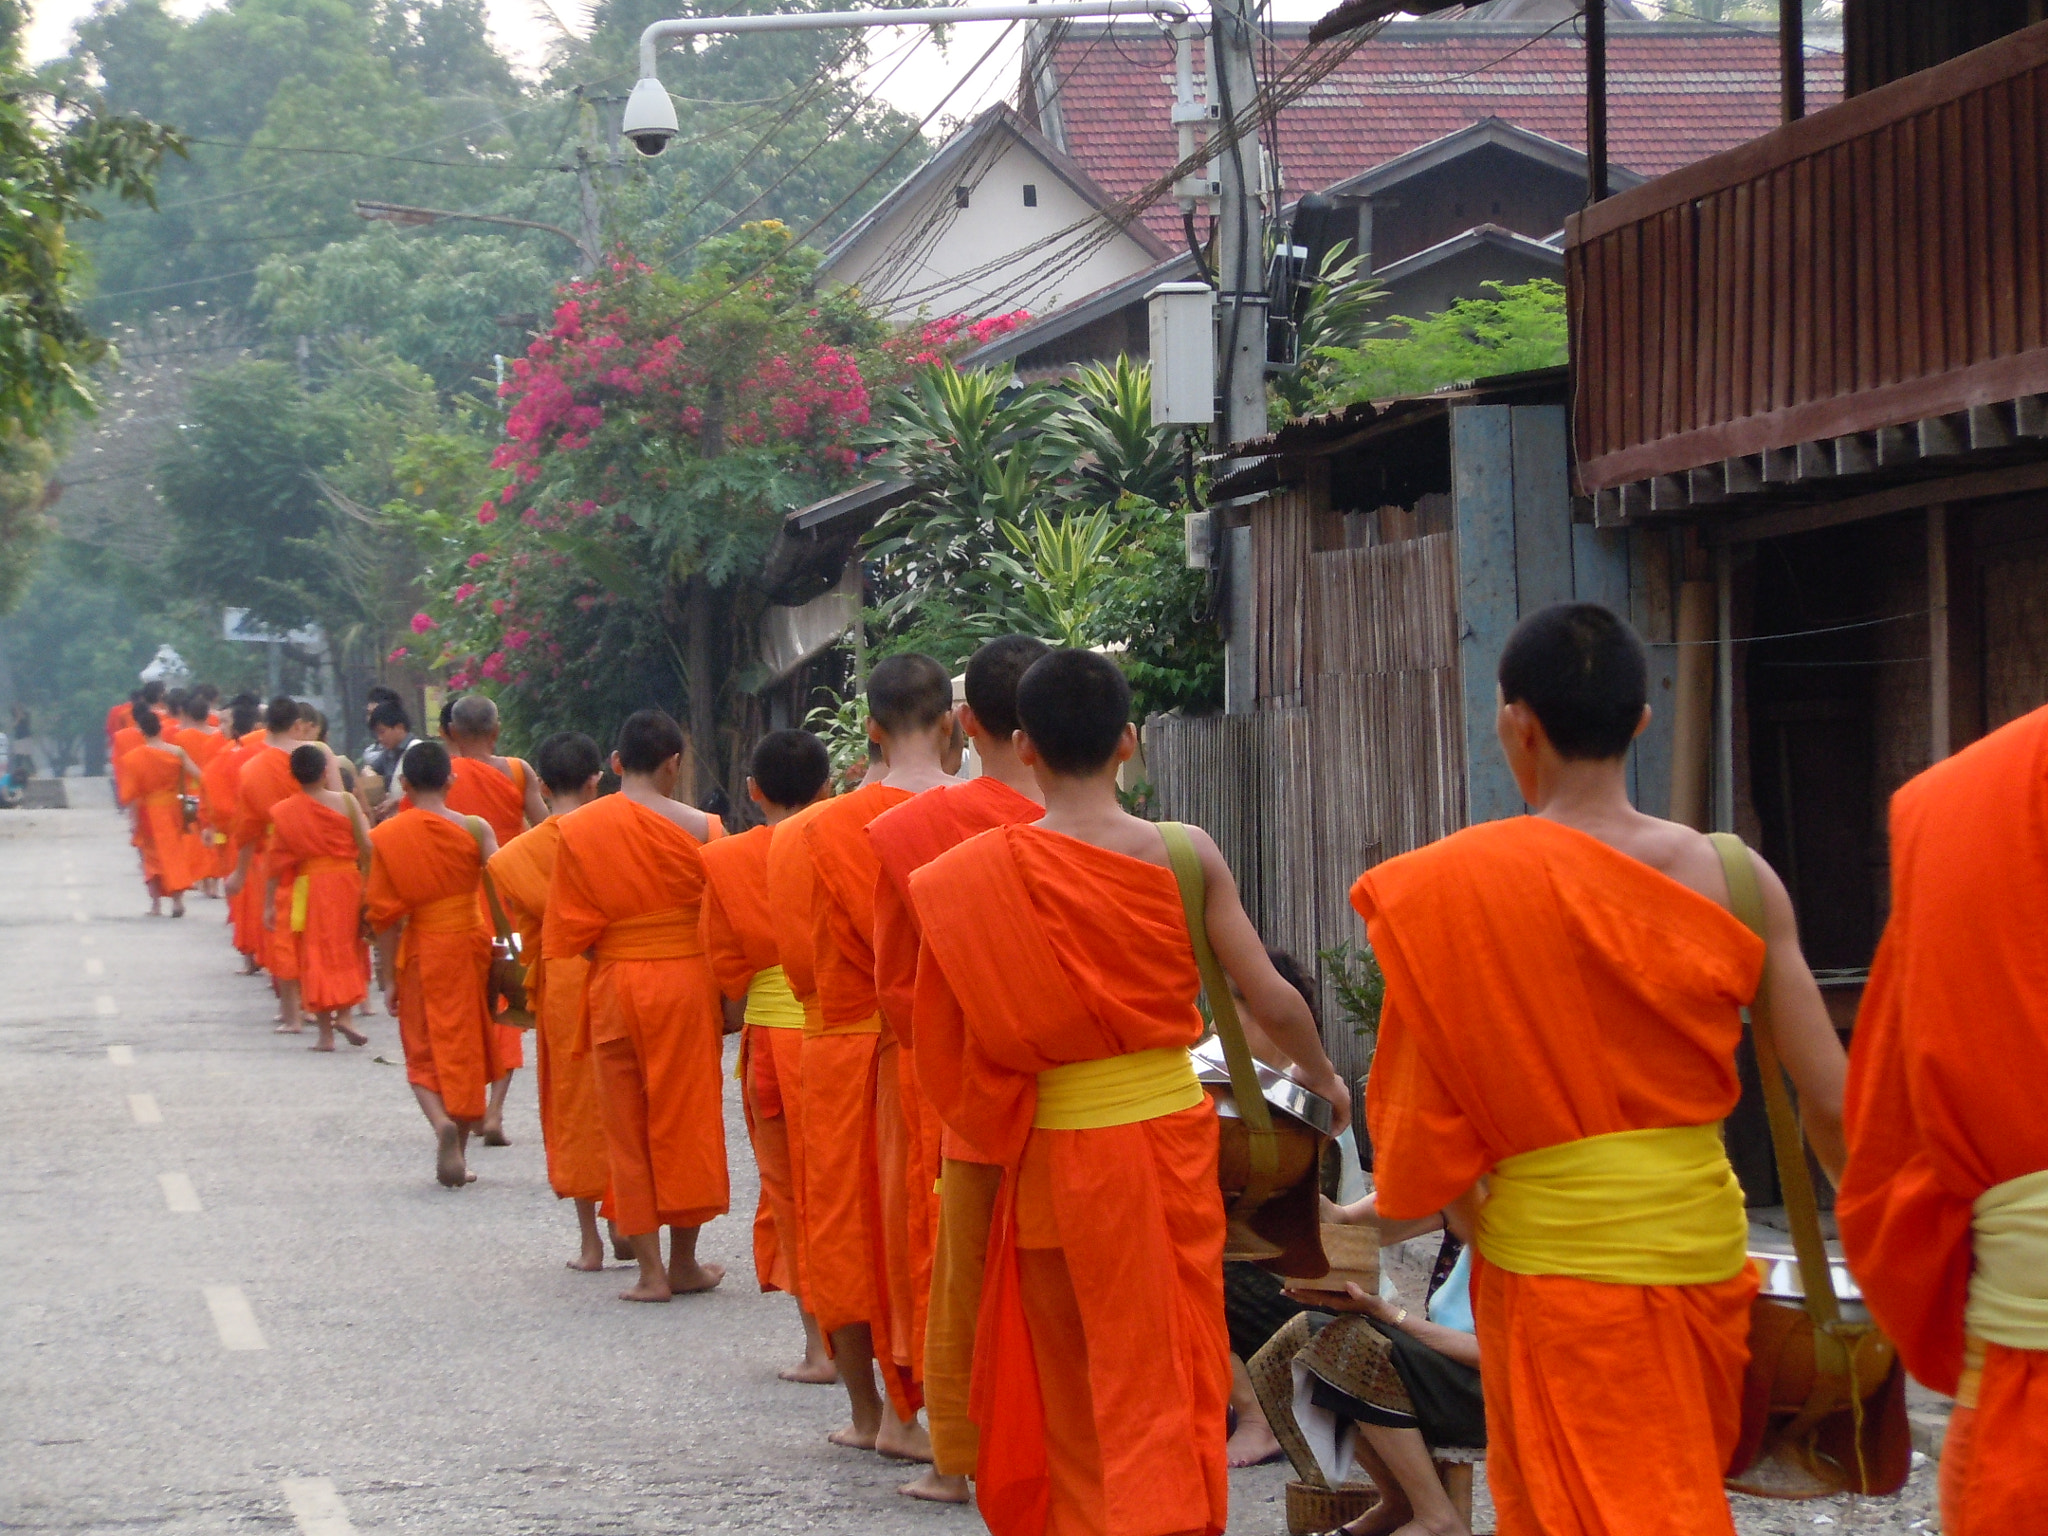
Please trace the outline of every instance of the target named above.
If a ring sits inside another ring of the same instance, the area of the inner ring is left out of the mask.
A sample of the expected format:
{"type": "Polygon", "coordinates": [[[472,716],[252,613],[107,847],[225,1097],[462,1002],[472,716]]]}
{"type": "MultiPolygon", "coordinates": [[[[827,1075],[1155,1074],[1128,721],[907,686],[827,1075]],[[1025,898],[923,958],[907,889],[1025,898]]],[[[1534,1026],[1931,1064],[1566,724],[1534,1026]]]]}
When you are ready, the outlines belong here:
{"type": "MultiPolygon", "coordinates": [[[[1382,862],[1352,893],[1386,973],[1376,1210],[1444,1212],[1475,1243],[1499,1530],[1733,1532],[1722,1475],[1757,1276],[1716,1128],[1743,1008],[1780,1042],[1872,1313],[1958,1397],[1944,1528],[2036,1528],[2048,711],[1894,801],[1892,918],[1849,1061],[1767,864],[1755,934],[1714,846],[1628,803],[1649,717],[1628,627],[1546,608],[1509,637],[1499,682],[1534,815],[1382,862]]],[[[367,932],[442,1184],[473,1180],[467,1139],[502,1135],[522,1063],[494,1012],[502,911],[549,1180],[578,1210],[571,1268],[602,1268],[608,1217],[637,1260],[625,1300],[723,1280],[696,1241],[729,1206],[737,1032],[756,1280],[799,1303],[805,1350],[782,1376],[848,1397],[831,1440],[928,1460],[903,1493],[973,1499],[997,1536],[1223,1532],[1225,1208],[1186,1051],[1200,975],[1182,877],[1116,795],[1137,737],[1112,662],[997,639],[956,707],[934,659],[889,657],[860,786],[831,795],[823,745],[770,733],[748,778],[762,825],[733,836],[674,799],[684,737],[659,711],[621,727],[618,788],[600,795],[594,741],[502,758],[496,709],[465,696],[446,745],[412,743],[365,817],[303,707],[272,700],[258,727],[238,702],[219,733],[209,705],[180,700],[170,733],[137,700],[117,756],[152,897],[223,879],[283,1026],[303,1008],[324,1040],[358,1038],[367,932]],[[197,854],[172,805],[190,780],[197,854]]],[[[1217,961],[1341,1128],[1350,1087],[1305,999],[1214,844],[1190,842],[1217,961]]],[[[1376,1516],[1346,1530],[1462,1532],[1454,1509],[1376,1516]]]]}

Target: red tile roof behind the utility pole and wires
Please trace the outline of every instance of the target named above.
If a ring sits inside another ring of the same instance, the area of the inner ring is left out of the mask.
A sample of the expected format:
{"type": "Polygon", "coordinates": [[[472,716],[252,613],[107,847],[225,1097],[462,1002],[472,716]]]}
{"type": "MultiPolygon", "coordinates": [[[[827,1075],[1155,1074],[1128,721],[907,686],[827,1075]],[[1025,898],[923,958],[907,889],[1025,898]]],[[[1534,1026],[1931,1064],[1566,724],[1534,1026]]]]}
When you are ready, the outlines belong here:
{"type": "MultiPolygon", "coordinates": [[[[1305,47],[1307,25],[1280,25],[1274,68],[1284,74],[1305,47]]],[[[1341,47],[1341,39],[1325,47],[1341,47]]],[[[1165,174],[1176,160],[1167,117],[1174,55],[1157,29],[1075,25],[1053,51],[1053,70],[1061,82],[1063,147],[1098,182],[1114,197],[1128,197],[1165,174]]],[[[1839,98],[1841,55],[1808,53],[1808,111],[1839,98]]],[[[1778,111],[1776,33],[1610,25],[1614,164],[1661,176],[1767,133],[1778,111]]],[[[1329,186],[1481,117],[1501,117],[1583,150],[1585,47],[1573,31],[1386,27],[1280,115],[1286,190],[1298,197],[1329,186]]],[[[1155,203],[1145,221],[1163,240],[1180,240],[1171,199],[1155,203]]]]}

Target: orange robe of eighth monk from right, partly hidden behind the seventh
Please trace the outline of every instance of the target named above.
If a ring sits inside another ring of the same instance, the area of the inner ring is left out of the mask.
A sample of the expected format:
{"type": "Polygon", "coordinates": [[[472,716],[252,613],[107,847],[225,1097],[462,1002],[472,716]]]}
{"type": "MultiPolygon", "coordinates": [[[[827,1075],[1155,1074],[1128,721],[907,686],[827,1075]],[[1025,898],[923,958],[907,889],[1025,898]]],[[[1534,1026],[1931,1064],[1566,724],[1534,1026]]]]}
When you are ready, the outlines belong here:
{"type": "Polygon", "coordinates": [[[541,1143],[547,1184],[563,1200],[602,1200],[610,1188],[604,1120],[598,1116],[598,1067],[584,1032],[584,983],[590,961],[541,956],[547,887],[555,879],[561,821],[549,817],[492,854],[492,881],[506,920],[520,932],[526,1006],[535,1016],[541,1073],[541,1143]]]}

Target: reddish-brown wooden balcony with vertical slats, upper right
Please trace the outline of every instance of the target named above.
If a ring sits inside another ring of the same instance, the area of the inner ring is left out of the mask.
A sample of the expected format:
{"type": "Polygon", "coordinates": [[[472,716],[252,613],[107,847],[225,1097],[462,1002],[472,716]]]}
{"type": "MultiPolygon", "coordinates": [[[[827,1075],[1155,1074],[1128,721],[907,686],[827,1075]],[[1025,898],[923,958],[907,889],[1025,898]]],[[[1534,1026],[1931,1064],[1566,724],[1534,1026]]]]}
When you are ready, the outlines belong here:
{"type": "Polygon", "coordinates": [[[1599,522],[2048,455],[2048,23],[1585,209],[1565,279],[1599,522]]]}

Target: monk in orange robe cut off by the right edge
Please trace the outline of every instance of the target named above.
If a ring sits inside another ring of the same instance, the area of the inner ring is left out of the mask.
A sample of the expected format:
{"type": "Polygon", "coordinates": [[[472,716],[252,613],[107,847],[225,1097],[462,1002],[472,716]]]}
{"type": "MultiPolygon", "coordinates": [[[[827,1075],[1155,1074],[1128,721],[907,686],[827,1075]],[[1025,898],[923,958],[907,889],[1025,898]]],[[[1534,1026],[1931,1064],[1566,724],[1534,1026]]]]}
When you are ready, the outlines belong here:
{"type": "Polygon", "coordinates": [[[2048,1509],[2048,709],[1898,791],[1890,831],[1835,1219],[1907,1370],[1956,1399],[1942,1530],[2032,1530],[2048,1509]]]}

